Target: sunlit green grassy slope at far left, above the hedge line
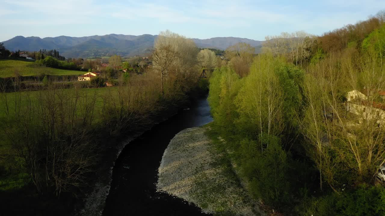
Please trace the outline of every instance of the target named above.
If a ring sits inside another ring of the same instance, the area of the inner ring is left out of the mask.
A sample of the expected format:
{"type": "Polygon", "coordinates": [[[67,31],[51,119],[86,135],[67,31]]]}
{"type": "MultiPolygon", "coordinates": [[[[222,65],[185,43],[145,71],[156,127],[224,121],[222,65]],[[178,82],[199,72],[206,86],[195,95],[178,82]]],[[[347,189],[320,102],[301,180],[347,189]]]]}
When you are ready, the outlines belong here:
{"type": "Polygon", "coordinates": [[[84,71],[63,70],[40,66],[37,63],[21,60],[0,60],[0,78],[13,77],[15,72],[21,76],[50,75],[82,75],[84,71]]]}

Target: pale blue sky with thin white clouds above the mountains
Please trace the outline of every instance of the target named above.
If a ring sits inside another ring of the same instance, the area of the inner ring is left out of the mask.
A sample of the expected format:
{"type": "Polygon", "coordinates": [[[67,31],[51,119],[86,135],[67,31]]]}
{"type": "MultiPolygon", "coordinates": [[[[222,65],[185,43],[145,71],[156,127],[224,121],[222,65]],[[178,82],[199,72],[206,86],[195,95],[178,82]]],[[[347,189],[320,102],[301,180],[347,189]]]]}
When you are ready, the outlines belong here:
{"type": "Polygon", "coordinates": [[[300,30],[321,35],[384,9],[385,0],[0,0],[0,41],[167,29],[188,38],[264,40],[300,30]]]}

